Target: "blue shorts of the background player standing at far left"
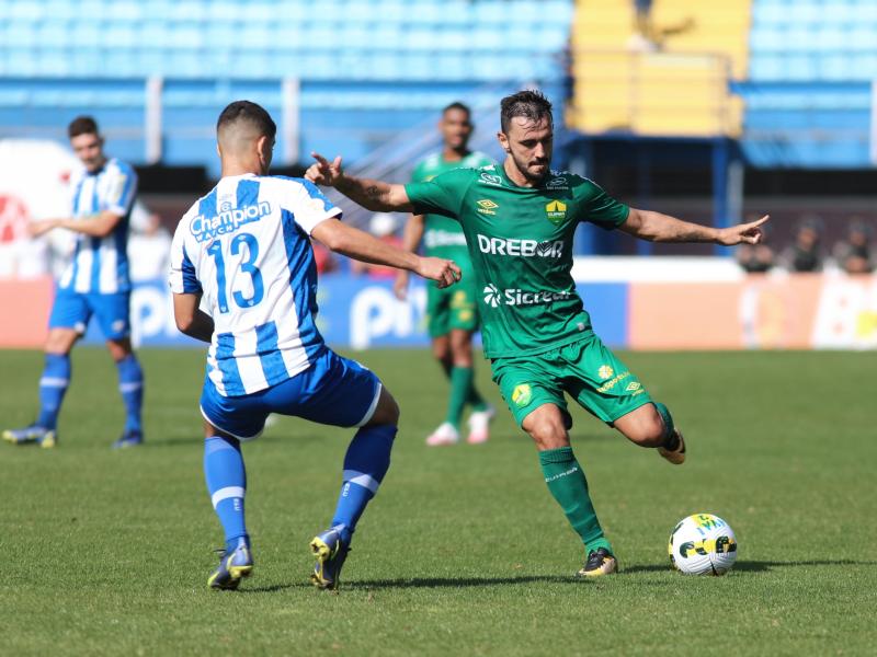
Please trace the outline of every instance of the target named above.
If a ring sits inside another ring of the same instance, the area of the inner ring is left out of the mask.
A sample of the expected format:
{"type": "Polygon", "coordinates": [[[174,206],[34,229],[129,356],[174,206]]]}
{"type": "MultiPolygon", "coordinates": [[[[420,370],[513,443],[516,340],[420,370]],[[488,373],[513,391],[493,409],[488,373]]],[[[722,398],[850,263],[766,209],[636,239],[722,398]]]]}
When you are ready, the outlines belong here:
{"type": "Polygon", "coordinates": [[[122,339],[130,335],[129,307],[130,292],[100,295],[58,290],[48,327],[72,328],[84,334],[91,315],[94,315],[106,339],[122,339]]]}

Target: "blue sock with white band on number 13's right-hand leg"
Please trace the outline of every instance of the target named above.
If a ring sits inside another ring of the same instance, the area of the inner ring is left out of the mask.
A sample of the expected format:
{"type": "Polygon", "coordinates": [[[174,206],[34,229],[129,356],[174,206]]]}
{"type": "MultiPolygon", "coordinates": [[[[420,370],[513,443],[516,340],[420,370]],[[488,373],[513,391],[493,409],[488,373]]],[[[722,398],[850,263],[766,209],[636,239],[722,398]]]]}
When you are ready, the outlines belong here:
{"type": "Polygon", "coordinates": [[[363,427],[351,440],[344,457],[344,481],[332,518],[332,527],[341,530],[345,543],[350,543],[360,516],[387,474],[397,430],[394,425],[363,427]]]}

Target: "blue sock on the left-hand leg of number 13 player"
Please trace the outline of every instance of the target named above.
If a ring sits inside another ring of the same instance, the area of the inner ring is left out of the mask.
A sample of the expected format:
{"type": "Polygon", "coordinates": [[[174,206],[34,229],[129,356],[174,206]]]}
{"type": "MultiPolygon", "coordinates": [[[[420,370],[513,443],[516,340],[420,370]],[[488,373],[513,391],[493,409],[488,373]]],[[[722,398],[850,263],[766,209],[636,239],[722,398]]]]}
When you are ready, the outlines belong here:
{"type": "Polygon", "coordinates": [[[226,552],[231,553],[241,540],[249,548],[250,535],[243,520],[247,471],[239,440],[218,436],[204,440],[204,479],[226,533],[226,552]]]}

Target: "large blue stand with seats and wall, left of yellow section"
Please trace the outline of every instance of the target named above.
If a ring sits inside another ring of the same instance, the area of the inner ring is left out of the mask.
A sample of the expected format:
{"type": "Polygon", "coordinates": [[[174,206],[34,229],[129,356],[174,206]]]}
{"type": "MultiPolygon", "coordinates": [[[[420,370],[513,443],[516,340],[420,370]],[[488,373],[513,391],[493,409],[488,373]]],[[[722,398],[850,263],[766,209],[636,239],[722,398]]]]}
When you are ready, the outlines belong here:
{"type": "Polygon", "coordinates": [[[498,82],[559,82],[572,11],[571,0],[0,2],[0,137],[61,138],[57,117],[89,107],[114,152],[143,163],[144,87],[159,77],[162,161],[210,164],[217,106],[234,93],[278,113],[281,80],[297,79],[301,152],[355,160],[460,90],[471,101],[498,82]]]}

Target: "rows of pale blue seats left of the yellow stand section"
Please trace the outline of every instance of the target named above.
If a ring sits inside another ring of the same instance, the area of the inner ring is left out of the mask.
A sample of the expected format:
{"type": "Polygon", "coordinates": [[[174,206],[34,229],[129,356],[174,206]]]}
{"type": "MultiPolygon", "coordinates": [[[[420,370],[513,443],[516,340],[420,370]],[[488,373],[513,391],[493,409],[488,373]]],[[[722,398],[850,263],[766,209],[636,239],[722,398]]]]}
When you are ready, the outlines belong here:
{"type": "MultiPolygon", "coordinates": [[[[228,74],[223,53],[230,45],[265,57],[264,62],[237,67],[240,74],[254,76],[247,71],[258,70],[260,76],[307,77],[316,70],[314,74],[324,77],[332,71],[343,76],[349,67],[321,61],[310,69],[300,57],[281,66],[276,56],[266,54],[352,48],[358,60],[367,58],[366,51],[383,54],[380,60],[360,67],[357,76],[388,79],[402,69],[407,79],[423,74],[429,80],[433,67],[409,65],[414,54],[451,50],[501,60],[523,48],[528,58],[544,58],[535,68],[558,77],[561,72],[553,62],[566,46],[572,11],[573,0],[29,0],[0,2],[0,18],[7,16],[0,21],[0,55],[5,61],[21,60],[30,48],[49,42],[53,47],[71,48],[81,76],[143,78],[173,76],[178,53],[208,48],[197,66],[191,61],[181,66],[186,76],[209,77],[228,74]],[[111,56],[115,66],[109,66],[100,55],[107,46],[127,51],[127,58],[111,56]],[[387,55],[398,61],[390,64],[387,55]]],[[[62,67],[37,58],[25,68],[33,74],[54,76],[62,67]]],[[[442,74],[447,76],[448,69],[466,67],[444,67],[442,74]]],[[[481,79],[490,79],[489,71],[509,67],[482,62],[478,70],[483,72],[481,79]]]]}

